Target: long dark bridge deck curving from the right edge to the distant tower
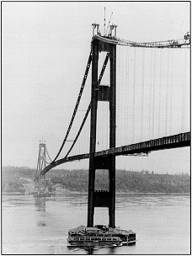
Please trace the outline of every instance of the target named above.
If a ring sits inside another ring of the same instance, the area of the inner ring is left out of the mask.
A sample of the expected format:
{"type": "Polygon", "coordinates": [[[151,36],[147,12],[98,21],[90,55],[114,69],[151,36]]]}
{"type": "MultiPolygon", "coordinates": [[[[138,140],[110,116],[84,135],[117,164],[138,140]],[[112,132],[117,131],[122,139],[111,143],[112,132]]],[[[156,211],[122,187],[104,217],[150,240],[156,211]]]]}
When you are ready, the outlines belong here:
{"type": "MultiPolygon", "coordinates": [[[[142,153],[142,152],[146,153],[146,152],[153,152],[153,151],[169,149],[169,148],[189,147],[189,146],[190,146],[190,131],[176,134],[173,136],[164,136],[164,137],[150,140],[150,141],[142,141],[142,142],[131,144],[128,146],[109,148],[107,150],[95,152],[95,157],[106,157],[111,154],[115,156],[133,155],[133,154],[142,153]]],[[[56,162],[48,165],[44,170],[41,171],[40,174],[45,174],[49,170],[51,170],[51,168],[55,168],[56,166],[62,163],[83,160],[88,157],[89,157],[89,154],[87,153],[87,154],[81,154],[81,155],[59,159],[56,162]]]]}

